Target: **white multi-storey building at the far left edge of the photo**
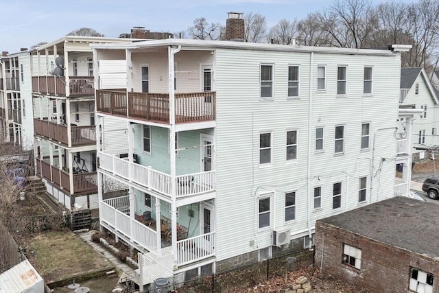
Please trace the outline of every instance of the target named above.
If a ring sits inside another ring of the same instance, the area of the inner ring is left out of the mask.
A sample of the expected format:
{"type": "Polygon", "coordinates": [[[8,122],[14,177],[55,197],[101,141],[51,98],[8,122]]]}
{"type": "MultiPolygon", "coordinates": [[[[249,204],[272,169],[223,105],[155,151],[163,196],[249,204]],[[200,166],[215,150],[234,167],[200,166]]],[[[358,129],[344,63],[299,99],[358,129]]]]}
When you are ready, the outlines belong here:
{"type": "Polygon", "coordinates": [[[4,142],[20,145],[24,150],[32,150],[34,124],[29,51],[22,48],[16,54],[4,53],[0,73],[1,138],[4,142]]]}

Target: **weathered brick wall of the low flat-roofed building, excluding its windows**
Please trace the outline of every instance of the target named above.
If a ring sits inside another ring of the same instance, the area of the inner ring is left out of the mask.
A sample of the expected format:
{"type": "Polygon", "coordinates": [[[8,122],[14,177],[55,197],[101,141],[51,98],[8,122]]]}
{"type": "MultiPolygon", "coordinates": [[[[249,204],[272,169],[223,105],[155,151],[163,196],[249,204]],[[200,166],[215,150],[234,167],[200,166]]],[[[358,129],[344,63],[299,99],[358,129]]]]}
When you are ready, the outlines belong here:
{"type": "Polygon", "coordinates": [[[314,266],[357,283],[372,292],[412,292],[410,267],[434,275],[434,292],[439,292],[439,260],[361,237],[355,233],[316,223],[314,266]],[[343,246],[361,249],[361,269],[342,263],[343,246]]]}

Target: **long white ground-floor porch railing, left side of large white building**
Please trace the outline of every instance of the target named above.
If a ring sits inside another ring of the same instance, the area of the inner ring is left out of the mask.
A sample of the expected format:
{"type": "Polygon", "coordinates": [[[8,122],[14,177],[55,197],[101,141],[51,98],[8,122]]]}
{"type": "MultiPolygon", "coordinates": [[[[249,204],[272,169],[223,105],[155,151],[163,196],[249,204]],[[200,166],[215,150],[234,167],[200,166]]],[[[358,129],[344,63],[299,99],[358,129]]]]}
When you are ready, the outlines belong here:
{"type": "Polygon", "coordinates": [[[122,233],[125,237],[132,239],[133,242],[136,242],[147,250],[157,250],[156,231],[137,222],[137,220],[131,219],[129,215],[109,204],[120,204],[119,208],[121,209],[126,207],[126,202],[129,202],[128,196],[102,200],[102,202],[99,203],[99,218],[108,224],[107,228],[110,228],[116,235],[122,233]]]}

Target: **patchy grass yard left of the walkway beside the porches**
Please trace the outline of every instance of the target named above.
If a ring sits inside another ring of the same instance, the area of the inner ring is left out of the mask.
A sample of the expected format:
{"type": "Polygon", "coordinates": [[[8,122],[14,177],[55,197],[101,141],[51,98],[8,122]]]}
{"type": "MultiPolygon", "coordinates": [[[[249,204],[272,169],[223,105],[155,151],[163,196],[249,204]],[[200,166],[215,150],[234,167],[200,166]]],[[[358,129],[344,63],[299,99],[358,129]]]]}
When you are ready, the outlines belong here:
{"type": "Polygon", "coordinates": [[[40,233],[30,240],[29,261],[46,282],[105,268],[110,263],[71,231],[40,233]],[[34,257],[30,251],[34,250],[34,257]]]}

